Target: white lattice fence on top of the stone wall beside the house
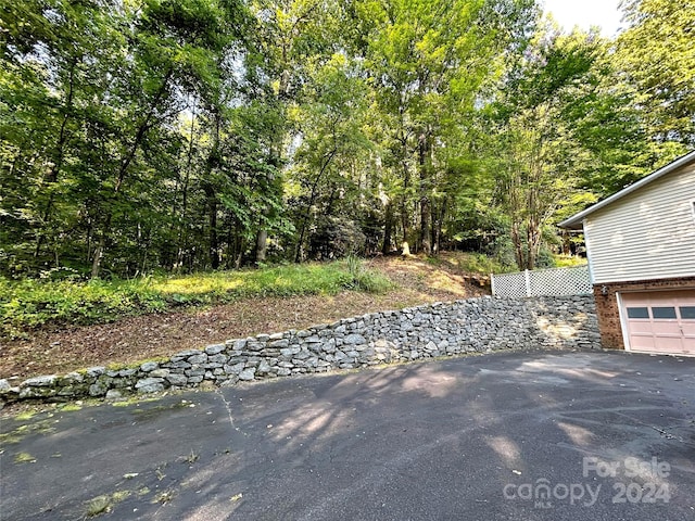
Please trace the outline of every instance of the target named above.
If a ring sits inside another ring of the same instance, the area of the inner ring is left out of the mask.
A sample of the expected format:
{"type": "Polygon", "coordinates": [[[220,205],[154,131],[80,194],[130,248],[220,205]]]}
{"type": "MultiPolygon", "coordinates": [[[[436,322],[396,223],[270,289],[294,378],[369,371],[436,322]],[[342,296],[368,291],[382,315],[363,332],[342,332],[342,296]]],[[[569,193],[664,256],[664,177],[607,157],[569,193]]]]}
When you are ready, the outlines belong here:
{"type": "Polygon", "coordinates": [[[517,274],[492,275],[492,294],[521,298],[525,296],[565,296],[592,293],[589,266],[540,269],[517,274]]]}

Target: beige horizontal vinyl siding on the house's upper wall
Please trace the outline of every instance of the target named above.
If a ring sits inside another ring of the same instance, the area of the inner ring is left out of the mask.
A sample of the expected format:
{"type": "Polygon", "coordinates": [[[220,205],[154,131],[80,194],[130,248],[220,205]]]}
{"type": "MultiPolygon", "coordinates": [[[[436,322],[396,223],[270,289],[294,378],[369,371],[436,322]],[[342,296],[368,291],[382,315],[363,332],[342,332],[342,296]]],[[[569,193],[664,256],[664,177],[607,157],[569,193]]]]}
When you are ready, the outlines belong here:
{"type": "Polygon", "coordinates": [[[594,283],[695,276],[695,164],[586,217],[594,283]]]}

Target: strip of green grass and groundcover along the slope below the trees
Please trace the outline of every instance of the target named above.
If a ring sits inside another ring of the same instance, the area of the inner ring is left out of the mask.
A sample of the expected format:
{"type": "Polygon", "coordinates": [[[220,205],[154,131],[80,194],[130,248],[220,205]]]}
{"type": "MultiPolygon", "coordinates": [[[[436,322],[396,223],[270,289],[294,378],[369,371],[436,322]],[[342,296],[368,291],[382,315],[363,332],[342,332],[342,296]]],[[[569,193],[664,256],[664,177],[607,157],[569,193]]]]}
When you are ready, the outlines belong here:
{"type": "Polygon", "coordinates": [[[0,278],[0,338],[22,336],[46,323],[108,322],[128,315],[182,305],[210,305],[243,297],[379,292],[391,287],[359,259],[288,265],[134,280],[53,281],[0,278]]]}

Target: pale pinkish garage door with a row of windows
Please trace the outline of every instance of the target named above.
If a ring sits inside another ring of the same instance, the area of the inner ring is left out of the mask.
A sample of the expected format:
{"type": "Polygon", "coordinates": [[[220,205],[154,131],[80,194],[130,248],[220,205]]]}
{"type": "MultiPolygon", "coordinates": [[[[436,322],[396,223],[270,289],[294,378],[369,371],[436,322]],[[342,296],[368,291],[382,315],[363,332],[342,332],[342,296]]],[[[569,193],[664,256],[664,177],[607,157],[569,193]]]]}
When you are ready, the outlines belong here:
{"type": "Polygon", "coordinates": [[[623,293],[630,351],[695,355],[695,290],[623,293]]]}

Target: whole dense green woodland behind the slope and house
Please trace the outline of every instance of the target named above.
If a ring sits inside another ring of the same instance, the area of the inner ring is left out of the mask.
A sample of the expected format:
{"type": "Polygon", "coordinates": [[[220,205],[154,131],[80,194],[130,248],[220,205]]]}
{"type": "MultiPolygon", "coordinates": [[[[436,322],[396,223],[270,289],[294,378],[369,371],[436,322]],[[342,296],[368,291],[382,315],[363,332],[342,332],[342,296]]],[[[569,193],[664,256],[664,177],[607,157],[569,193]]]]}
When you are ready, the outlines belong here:
{"type": "Polygon", "coordinates": [[[564,34],[533,0],[13,0],[0,275],[569,251],[695,147],[695,2],[564,34]]]}

